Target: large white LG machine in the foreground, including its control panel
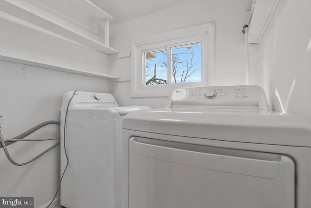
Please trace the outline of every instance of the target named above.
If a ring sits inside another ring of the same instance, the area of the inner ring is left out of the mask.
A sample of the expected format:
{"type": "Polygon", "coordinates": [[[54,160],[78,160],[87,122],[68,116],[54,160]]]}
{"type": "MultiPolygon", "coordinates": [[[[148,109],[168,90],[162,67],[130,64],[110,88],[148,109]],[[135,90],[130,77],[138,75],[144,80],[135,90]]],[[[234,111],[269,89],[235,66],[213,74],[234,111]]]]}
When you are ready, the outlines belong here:
{"type": "Polygon", "coordinates": [[[311,208],[311,123],[259,86],[180,88],[123,119],[123,208],[311,208]]]}

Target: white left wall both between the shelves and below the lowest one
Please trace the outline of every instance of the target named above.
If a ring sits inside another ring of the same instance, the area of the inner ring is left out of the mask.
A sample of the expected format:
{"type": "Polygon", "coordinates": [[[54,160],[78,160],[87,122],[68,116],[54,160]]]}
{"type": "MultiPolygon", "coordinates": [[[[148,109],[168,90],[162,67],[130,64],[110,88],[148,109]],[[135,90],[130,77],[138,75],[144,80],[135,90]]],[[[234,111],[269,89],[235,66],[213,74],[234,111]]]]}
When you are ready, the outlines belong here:
{"type": "MultiPolygon", "coordinates": [[[[38,30],[20,20],[0,16],[0,51],[106,74],[108,56],[80,44],[38,30]]],[[[29,78],[17,77],[17,63],[0,61],[1,132],[9,139],[46,120],[60,120],[62,96],[69,90],[109,92],[106,79],[26,66],[29,78]]],[[[29,138],[58,137],[59,126],[49,126],[29,138]]],[[[17,142],[8,146],[14,160],[28,161],[55,141],[17,142]]],[[[60,179],[59,146],[17,167],[0,149],[0,196],[34,196],[35,208],[52,200],[60,179]]],[[[59,203],[59,201],[58,201],[59,203]]],[[[43,207],[42,207],[43,208],[43,207]]]]}

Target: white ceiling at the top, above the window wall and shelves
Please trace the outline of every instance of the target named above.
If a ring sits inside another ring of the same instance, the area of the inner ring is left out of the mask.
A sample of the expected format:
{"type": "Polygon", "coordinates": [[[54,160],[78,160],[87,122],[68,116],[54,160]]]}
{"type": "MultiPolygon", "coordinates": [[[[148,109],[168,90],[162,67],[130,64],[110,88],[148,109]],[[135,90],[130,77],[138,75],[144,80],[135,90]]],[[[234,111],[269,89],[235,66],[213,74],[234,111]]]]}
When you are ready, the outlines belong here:
{"type": "Polygon", "coordinates": [[[90,0],[113,17],[111,24],[142,17],[191,0],[90,0]]]}

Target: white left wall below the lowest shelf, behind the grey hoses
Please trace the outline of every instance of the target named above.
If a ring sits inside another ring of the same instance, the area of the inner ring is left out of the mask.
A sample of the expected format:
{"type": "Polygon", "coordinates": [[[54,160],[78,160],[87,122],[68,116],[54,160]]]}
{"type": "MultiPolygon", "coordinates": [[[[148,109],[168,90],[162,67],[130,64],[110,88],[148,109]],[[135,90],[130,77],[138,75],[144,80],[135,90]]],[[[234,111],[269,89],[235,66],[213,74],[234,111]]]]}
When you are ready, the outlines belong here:
{"type": "MultiPolygon", "coordinates": [[[[9,139],[46,120],[60,120],[62,96],[69,90],[109,92],[102,78],[74,75],[27,66],[29,78],[17,77],[17,64],[0,61],[1,132],[9,139]]],[[[29,138],[59,136],[59,126],[45,127],[29,138]]],[[[52,146],[53,142],[17,142],[8,151],[17,162],[25,162],[52,146]]],[[[52,200],[60,175],[59,146],[33,163],[17,167],[0,149],[0,196],[34,196],[35,208],[52,200]]]]}

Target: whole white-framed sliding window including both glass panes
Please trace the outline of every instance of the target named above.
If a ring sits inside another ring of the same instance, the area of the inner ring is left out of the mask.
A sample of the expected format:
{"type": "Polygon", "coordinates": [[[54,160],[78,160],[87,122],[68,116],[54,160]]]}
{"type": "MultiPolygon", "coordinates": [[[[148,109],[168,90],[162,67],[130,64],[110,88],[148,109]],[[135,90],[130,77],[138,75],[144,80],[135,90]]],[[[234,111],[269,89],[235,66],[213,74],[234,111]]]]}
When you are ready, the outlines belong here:
{"type": "Polygon", "coordinates": [[[213,82],[213,23],[132,41],[131,96],[169,96],[213,82]]]}

